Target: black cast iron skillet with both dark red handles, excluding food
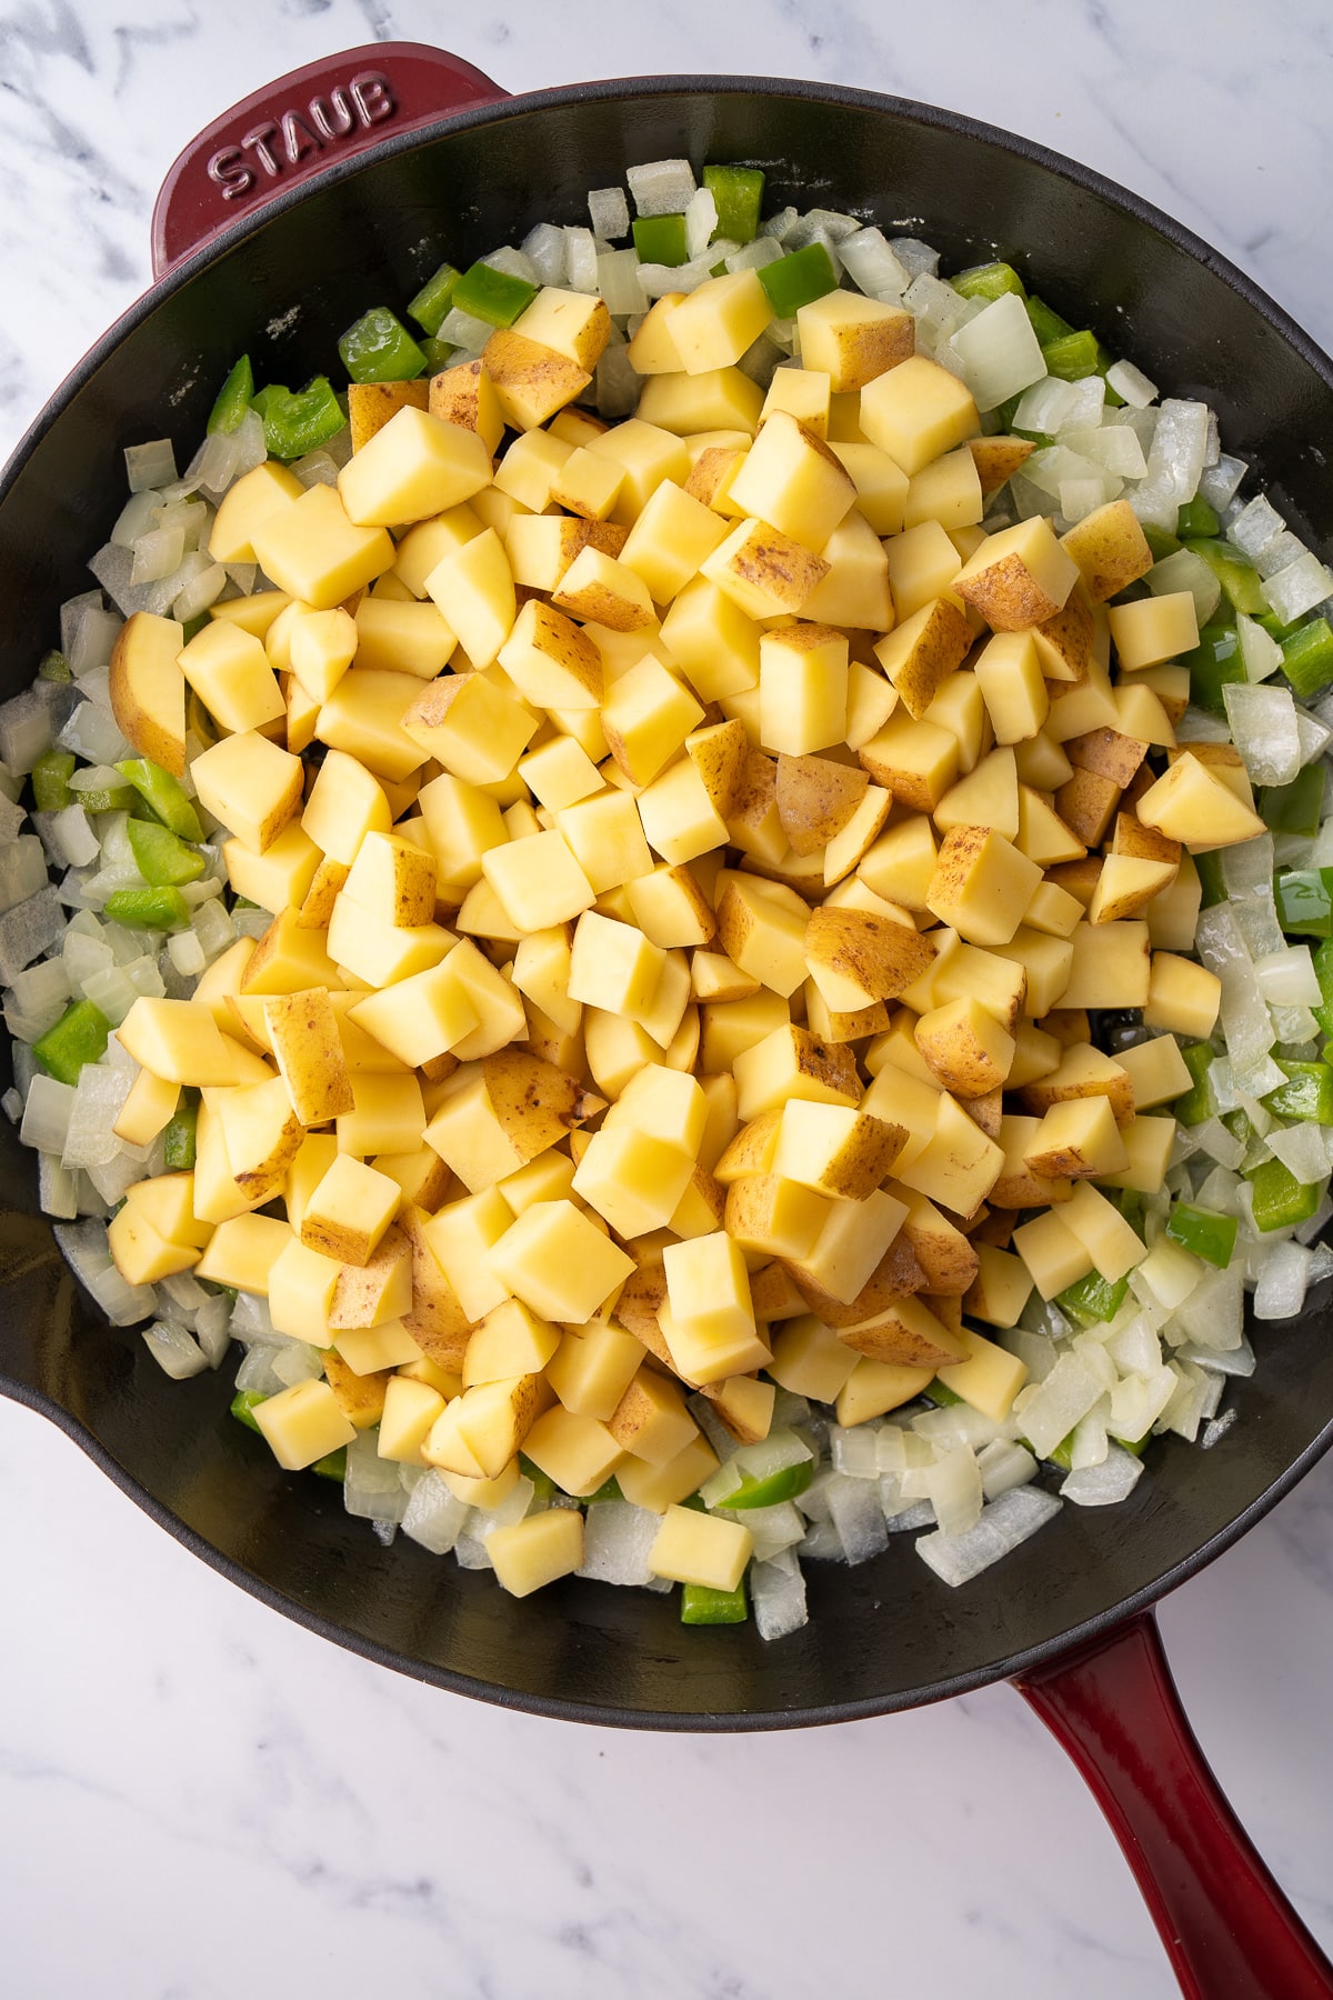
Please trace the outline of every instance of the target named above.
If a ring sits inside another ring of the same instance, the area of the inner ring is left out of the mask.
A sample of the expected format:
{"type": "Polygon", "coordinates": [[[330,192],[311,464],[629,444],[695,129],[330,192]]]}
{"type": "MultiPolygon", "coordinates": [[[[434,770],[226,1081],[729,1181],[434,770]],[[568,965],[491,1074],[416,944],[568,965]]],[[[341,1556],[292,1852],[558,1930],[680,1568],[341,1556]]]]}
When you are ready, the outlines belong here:
{"type": "MultiPolygon", "coordinates": [[[[274,84],[176,162],[154,216],[158,282],[92,350],[0,486],[4,686],[52,642],[56,604],[122,504],[120,448],[200,432],[242,348],[260,380],[328,368],[338,332],[590,186],[687,154],[751,160],[773,202],[919,222],[957,268],[995,252],[1075,324],[1219,410],[1277,506],[1333,542],[1333,366],[1167,216],[1081,166],[971,120],[827,86],[652,78],[506,102],[480,72],[402,44],[274,84]],[[306,186],[314,182],[312,186],[306,186]]],[[[681,1628],[667,1600],[570,1582],[516,1602],[488,1576],[392,1550],[320,1480],[284,1476],[228,1416],[228,1382],[168,1382],[108,1330],[36,1214],[32,1154],[0,1124],[0,1390],[60,1424],[148,1514],[244,1590],[440,1688],[578,1722],[759,1730],[873,1716],[1001,1676],[1089,1776],[1189,1994],[1303,2000],[1333,1972],[1221,1800],[1147,1606],[1227,1548],[1333,1442],[1327,1304],[1259,1332],[1239,1422],[1199,1452],[1153,1448],[1125,1506],[1063,1518],[965,1590],[907,1538],[863,1568],[811,1566],[809,1626],[681,1628]]]]}

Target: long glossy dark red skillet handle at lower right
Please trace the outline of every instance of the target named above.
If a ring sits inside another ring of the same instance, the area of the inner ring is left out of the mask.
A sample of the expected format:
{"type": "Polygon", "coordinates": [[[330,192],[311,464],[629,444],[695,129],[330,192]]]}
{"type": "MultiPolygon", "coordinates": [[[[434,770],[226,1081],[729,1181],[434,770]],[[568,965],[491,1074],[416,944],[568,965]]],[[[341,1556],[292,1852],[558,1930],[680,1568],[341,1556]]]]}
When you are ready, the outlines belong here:
{"type": "Polygon", "coordinates": [[[1187,2000],[1333,1996],[1333,1966],[1207,1766],[1149,1612],[1017,1688],[1111,1822],[1187,2000]]]}

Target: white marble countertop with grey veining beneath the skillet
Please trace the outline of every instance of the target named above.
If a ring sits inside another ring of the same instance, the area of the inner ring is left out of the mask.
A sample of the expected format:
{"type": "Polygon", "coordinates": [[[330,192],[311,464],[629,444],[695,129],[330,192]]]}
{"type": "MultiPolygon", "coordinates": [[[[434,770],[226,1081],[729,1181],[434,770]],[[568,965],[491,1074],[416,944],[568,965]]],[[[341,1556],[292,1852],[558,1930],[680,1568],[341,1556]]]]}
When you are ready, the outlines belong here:
{"type": "MultiPolygon", "coordinates": [[[[446,42],[512,90],[759,70],[991,118],[1159,202],[1333,346],[1317,0],[1269,16],[1215,0],[1189,26],[1147,0],[935,0],[909,22],[865,0],[658,0],[646,36],[648,12],[10,10],[0,448],[148,282],[152,196],[196,128],[374,38],[446,42]]],[[[10,1404],[0,1574],[0,1984],[16,2000],[342,2000],[368,1980],[434,2000],[1175,1992],[1095,1806],[1007,1688],[773,1738],[482,1708],[252,1602],[10,1404]]],[[[1333,1460],[1161,1622],[1205,1750],[1333,1948],[1333,1460]]]]}

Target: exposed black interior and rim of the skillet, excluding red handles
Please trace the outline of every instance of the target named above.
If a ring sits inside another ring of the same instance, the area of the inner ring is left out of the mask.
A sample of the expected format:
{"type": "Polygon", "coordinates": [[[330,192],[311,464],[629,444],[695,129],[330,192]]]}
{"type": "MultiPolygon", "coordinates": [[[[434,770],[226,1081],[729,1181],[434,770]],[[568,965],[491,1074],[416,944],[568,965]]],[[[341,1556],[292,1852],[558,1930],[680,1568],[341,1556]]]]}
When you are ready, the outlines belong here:
{"type": "MultiPolygon", "coordinates": [[[[56,604],[122,504],[120,448],[170,430],[188,454],[242,348],[260,380],[336,366],[366,306],[400,304],[442,256],[470,260],[666,154],[749,160],[769,200],[915,230],[943,268],[1011,256],[1073,324],[1219,410],[1275,504],[1333,542],[1333,372],[1251,286],[1143,204],[1017,140],[919,106],[797,84],[660,80],[548,92],[390,142],[236,232],[108,334],[0,490],[0,694],[56,638],[56,604]]],[[[893,232],[893,230],[889,230],[893,232]]],[[[226,1414],[224,1376],[174,1384],[108,1330],[36,1216],[36,1174],[0,1128],[0,1388],[62,1422],[200,1556],[276,1608],[386,1664],[488,1700],[598,1722],[763,1728],[903,1708],[977,1686],[1111,1622],[1225,1546],[1333,1436],[1327,1304],[1255,1334],[1261,1366],[1213,1452],[1153,1446],[1107,1512],[1063,1518],[949,1592],[911,1536],[863,1568],[811,1564],[809,1626],[689,1630],[671,1600],[562,1584],[514,1602],[406,1540],[380,1548],[338,1492],[286,1476],[226,1414]]]]}

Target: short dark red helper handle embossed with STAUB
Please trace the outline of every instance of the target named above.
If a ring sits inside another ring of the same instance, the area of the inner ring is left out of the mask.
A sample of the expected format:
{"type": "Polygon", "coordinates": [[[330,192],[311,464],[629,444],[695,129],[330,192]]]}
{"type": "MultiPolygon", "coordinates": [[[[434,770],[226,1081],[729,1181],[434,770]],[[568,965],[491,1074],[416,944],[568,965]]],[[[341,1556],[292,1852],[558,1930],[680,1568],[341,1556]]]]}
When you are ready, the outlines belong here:
{"type": "Polygon", "coordinates": [[[336,160],[504,96],[462,56],[422,42],[348,48],[280,76],[214,118],[168,172],[152,212],[154,278],[336,160]]]}

